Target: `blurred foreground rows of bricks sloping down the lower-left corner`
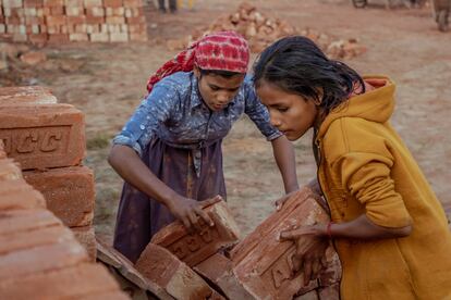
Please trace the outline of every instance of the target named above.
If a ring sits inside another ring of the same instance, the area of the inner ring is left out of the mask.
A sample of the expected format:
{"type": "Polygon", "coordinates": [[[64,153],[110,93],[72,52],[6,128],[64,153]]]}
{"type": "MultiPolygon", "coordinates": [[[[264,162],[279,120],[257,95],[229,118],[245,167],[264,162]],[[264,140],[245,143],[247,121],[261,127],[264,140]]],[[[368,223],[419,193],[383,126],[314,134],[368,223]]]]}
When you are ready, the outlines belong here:
{"type": "Polygon", "coordinates": [[[23,178],[0,141],[0,299],[125,300],[23,178]]]}

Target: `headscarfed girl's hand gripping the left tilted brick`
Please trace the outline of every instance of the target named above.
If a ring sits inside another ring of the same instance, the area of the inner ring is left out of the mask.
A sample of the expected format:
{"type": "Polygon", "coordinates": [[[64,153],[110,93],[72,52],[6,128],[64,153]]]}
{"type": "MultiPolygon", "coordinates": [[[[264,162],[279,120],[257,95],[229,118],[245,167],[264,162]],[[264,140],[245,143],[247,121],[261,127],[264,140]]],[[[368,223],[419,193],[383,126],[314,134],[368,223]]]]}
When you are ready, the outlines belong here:
{"type": "Polygon", "coordinates": [[[204,201],[196,201],[194,199],[185,197],[178,197],[174,201],[171,201],[168,209],[178,220],[183,223],[190,233],[193,233],[194,229],[202,230],[199,217],[203,218],[204,222],[209,226],[215,226],[215,223],[210,216],[203,211],[203,208],[211,205],[220,200],[222,200],[222,198],[219,195],[204,201]]]}

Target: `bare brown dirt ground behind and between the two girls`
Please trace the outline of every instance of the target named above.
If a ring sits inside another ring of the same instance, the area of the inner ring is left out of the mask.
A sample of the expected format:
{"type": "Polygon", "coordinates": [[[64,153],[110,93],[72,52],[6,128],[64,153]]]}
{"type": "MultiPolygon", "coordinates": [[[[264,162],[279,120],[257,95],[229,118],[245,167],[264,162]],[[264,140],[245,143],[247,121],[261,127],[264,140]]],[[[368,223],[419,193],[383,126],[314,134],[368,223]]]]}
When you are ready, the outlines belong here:
{"type": "MultiPolygon", "coordinates": [[[[85,164],[96,173],[97,234],[111,237],[122,182],[106,162],[109,140],[145,95],[148,75],[175,54],[166,40],[181,38],[235,11],[240,0],[197,0],[194,10],[161,15],[149,5],[148,42],[74,43],[46,47],[49,60],[28,71],[21,85],[49,86],[60,102],[86,114],[88,153],[85,164]]],[[[430,9],[386,10],[369,0],[356,10],[345,0],[248,1],[258,10],[337,38],[358,38],[367,52],[346,63],[362,74],[387,74],[398,84],[393,124],[405,140],[439,199],[451,208],[451,33],[437,30],[430,9]]],[[[309,137],[295,142],[301,184],[315,176],[309,137]]],[[[266,142],[247,117],[224,141],[228,201],[248,233],[272,210],[282,182],[266,142]]]]}

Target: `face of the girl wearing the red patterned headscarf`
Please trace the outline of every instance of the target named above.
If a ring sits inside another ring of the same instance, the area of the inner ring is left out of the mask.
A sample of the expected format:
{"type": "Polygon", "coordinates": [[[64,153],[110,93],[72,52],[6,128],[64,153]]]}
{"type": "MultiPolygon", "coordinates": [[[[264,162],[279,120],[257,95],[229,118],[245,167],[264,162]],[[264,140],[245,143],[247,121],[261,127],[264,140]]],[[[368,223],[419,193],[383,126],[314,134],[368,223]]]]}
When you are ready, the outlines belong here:
{"type": "Polygon", "coordinates": [[[223,110],[235,98],[244,80],[244,74],[223,77],[215,74],[200,76],[198,68],[194,70],[198,78],[199,92],[204,102],[212,111],[223,110]]]}

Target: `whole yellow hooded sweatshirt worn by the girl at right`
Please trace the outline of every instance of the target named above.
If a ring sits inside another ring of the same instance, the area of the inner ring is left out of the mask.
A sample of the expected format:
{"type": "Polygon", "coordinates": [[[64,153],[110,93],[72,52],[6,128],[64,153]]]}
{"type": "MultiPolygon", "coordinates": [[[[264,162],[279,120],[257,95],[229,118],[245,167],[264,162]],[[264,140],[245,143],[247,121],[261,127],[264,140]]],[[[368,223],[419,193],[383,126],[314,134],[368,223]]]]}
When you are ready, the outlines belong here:
{"type": "Polygon", "coordinates": [[[390,125],[395,86],[382,76],[365,82],[377,88],[350,98],[319,127],[319,184],[336,223],[366,214],[383,227],[413,229],[403,238],[336,239],[341,297],[451,299],[451,234],[441,204],[390,125]]]}

